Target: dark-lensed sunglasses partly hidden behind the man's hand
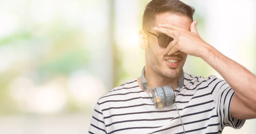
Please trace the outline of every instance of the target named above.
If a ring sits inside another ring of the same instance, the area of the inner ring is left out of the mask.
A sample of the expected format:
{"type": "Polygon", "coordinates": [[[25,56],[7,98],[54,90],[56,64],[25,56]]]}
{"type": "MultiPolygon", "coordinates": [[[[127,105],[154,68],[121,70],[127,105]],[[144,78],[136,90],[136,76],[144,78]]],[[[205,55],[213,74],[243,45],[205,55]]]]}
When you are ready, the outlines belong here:
{"type": "Polygon", "coordinates": [[[172,37],[169,37],[169,36],[167,36],[166,34],[157,35],[157,34],[154,34],[154,33],[149,32],[149,31],[145,31],[145,32],[148,33],[148,34],[154,35],[155,37],[157,37],[158,45],[159,45],[161,48],[167,48],[167,46],[169,45],[169,43],[171,43],[172,40],[174,40],[172,37]]]}

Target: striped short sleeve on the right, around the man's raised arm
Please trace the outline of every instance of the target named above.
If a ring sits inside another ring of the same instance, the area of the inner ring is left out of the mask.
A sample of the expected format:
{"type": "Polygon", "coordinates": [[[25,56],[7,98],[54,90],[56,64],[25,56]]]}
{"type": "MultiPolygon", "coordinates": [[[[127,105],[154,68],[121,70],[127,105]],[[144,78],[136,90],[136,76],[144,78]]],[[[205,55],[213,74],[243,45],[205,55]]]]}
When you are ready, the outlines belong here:
{"type": "Polygon", "coordinates": [[[214,99],[221,128],[230,126],[240,129],[244,125],[245,120],[233,118],[230,111],[231,102],[235,95],[233,89],[225,80],[218,79],[213,75],[208,78],[207,83],[214,99]]]}

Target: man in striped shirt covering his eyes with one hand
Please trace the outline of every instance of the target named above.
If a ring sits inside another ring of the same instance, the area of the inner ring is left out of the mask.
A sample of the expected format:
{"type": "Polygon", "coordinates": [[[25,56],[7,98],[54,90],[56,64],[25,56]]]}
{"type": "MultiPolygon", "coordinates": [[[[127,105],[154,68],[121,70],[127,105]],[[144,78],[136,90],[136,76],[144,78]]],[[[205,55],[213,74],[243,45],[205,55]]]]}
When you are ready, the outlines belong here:
{"type": "Polygon", "coordinates": [[[148,3],[140,31],[148,88],[138,77],[100,97],[89,134],[221,134],[225,126],[239,129],[256,118],[256,76],[201,39],[194,11],[179,0],[148,3]],[[188,54],[224,80],[183,72],[188,54]],[[166,85],[174,88],[175,105],[156,107],[148,89],[166,85]]]}

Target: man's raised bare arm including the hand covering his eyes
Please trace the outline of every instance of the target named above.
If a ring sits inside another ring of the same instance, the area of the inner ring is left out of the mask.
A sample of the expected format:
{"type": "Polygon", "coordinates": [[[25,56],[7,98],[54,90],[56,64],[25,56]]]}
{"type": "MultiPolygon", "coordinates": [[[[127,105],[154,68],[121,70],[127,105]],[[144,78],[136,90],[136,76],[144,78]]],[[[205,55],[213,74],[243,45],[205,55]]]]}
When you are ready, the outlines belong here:
{"type": "Polygon", "coordinates": [[[199,36],[196,23],[196,21],[191,23],[190,31],[173,24],[161,24],[157,27],[155,31],[174,38],[164,54],[171,55],[176,51],[182,51],[192,56],[201,57],[221,74],[235,91],[236,94],[230,108],[231,116],[236,119],[256,118],[256,76],[207,44],[199,36]]]}

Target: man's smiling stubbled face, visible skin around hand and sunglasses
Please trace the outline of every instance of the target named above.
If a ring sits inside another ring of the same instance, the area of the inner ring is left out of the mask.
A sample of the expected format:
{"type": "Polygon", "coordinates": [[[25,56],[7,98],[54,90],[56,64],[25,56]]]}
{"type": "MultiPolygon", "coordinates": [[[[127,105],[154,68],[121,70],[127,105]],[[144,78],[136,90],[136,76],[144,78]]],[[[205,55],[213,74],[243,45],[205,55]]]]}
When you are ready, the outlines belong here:
{"type": "MultiPolygon", "coordinates": [[[[176,14],[163,13],[156,15],[156,24],[163,23],[172,23],[177,26],[180,26],[183,29],[190,31],[190,24],[192,20],[186,16],[180,16],[176,14]]],[[[154,34],[162,34],[157,33],[153,30],[152,27],[151,32],[154,34]]],[[[185,64],[187,54],[177,51],[172,55],[163,55],[163,51],[165,48],[160,48],[158,45],[158,40],[154,35],[148,35],[148,44],[149,47],[146,50],[146,60],[151,68],[160,76],[167,78],[176,78],[179,77],[180,72],[185,64]]]]}

